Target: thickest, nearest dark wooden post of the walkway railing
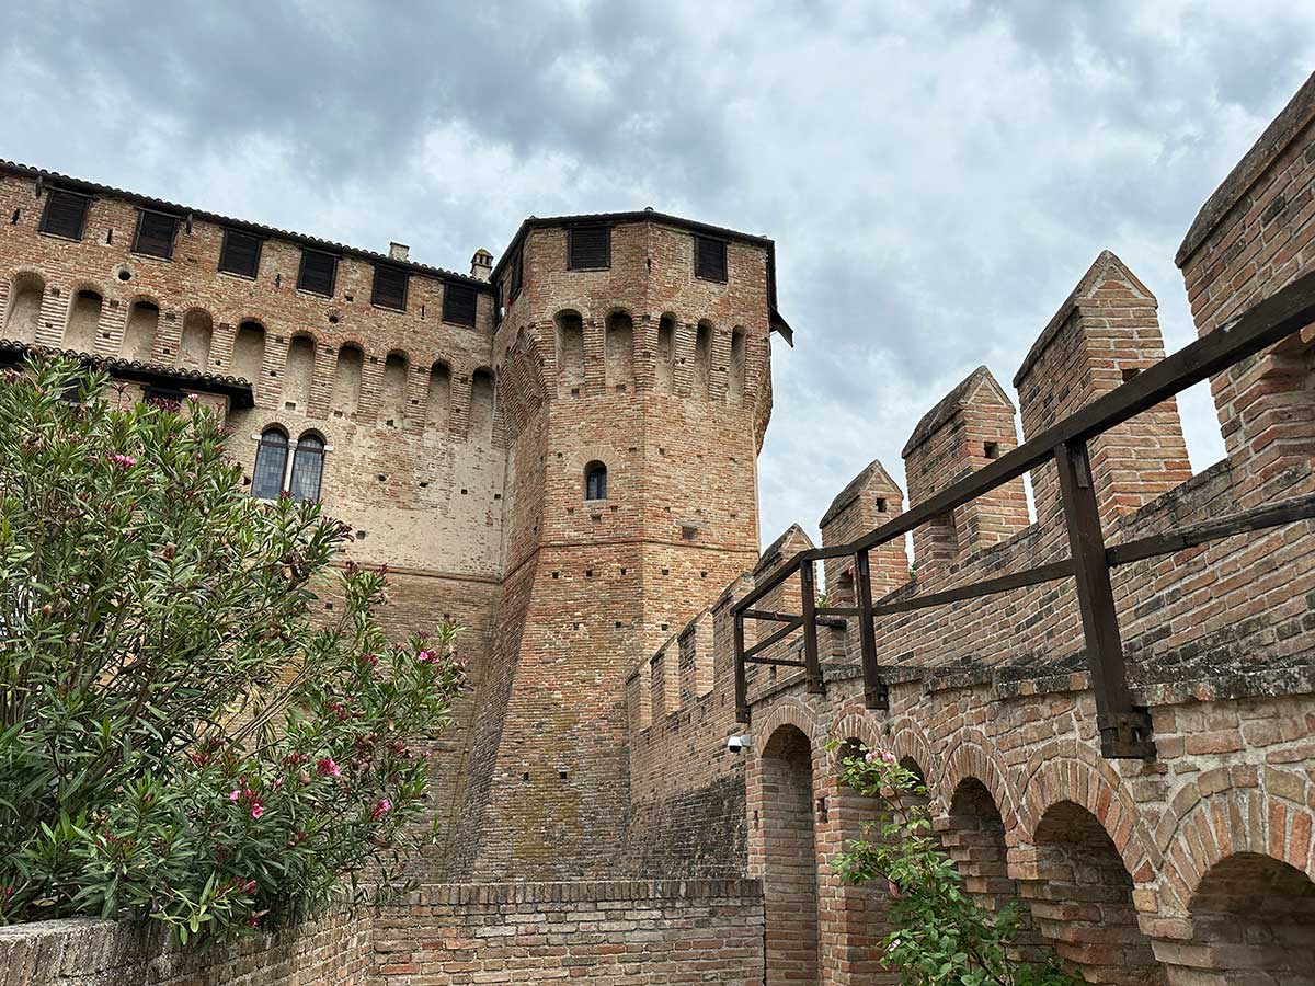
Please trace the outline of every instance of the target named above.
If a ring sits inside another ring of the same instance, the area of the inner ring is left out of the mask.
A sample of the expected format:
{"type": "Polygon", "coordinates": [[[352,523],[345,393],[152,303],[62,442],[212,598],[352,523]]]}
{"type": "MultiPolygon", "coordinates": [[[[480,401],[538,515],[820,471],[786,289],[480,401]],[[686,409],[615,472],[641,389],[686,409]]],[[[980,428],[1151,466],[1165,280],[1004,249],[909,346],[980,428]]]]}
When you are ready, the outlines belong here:
{"type": "Polygon", "coordinates": [[[1086,442],[1076,439],[1056,446],[1055,464],[1060,475],[1077,602],[1082,613],[1086,661],[1095,693],[1101,752],[1106,757],[1123,759],[1155,756],[1151,716],[1144,709],[1134,709],[1132,692],[1128,689],[1119,617],[1114,607],[1110,565],[1105,553],[1105,535],[1095,504],[1086,442]]]}

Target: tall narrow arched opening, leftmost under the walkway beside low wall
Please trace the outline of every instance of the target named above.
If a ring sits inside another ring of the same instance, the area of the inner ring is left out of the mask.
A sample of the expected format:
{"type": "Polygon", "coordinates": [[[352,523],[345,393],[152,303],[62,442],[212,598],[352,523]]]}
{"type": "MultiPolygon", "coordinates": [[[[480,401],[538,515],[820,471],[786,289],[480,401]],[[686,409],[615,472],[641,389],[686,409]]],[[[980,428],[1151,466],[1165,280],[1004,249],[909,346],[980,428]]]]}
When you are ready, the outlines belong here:
{"type": "Polygon", "coordinates": [[[763,898],[767,983],[814,986],[819,973],[818,860],[813,815],[813,747],[796,726],[781,726],[763,747],[763,898]]]}

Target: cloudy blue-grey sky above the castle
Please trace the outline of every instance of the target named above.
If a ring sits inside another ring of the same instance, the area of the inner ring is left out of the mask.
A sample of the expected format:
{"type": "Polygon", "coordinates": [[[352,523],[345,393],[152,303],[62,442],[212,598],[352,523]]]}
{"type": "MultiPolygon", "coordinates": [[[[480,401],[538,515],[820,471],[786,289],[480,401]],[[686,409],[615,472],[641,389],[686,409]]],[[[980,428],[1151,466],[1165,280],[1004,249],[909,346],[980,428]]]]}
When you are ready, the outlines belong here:
{"type": "MultiPolygon", "coordinates": [[[[1304,9],[1303,9],[1304,8],[1304,9]]],[[[1173,252],[1315,68],[1233,3],[11,4],[0,156],[466,270],[527,214],[652,205],[777,242],[763,538],[815,530],[1103,247],[1193,338],[1173,252]]],[[[1222,454],[1185,401],[1197,469],[1222,454]]]]}

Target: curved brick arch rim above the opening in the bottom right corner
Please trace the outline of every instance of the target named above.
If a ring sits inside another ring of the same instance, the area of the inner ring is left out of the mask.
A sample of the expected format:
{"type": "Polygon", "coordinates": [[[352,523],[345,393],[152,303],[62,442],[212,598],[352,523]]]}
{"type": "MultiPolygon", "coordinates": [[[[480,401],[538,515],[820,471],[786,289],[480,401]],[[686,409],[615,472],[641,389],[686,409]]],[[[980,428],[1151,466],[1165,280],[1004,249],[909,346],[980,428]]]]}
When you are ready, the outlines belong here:
{"type": "Polygon", "coordinates": [[[1161,893],[1161,910],[1186,916],[1211,868],[1237,853],[1266,856],[1315,881],[1315,811],[1304,774],[1270,768],[1258,781],[1235,786],[1230,778],[1227,787],[1206,795],[1193,784],[1178,793],[1170,805],[1173,824],[1161,830],[1168,832],[1164,889],[1173,891],[1161,893]]]}

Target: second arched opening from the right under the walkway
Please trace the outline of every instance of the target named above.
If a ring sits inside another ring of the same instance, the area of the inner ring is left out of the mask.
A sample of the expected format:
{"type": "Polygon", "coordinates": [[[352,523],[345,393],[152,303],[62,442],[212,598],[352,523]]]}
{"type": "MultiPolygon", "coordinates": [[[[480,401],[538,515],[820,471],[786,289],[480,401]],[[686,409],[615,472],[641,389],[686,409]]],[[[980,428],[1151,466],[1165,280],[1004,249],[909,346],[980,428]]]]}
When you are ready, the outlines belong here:
{"type": "Polygon", "coordinates": [[[1055,953],[1088,982],[1157,986],[1164,968],[1137,927],[1128,876],[1109,833],[1086,809],[1061,801],[1035,836],[1032,916],[1055,953]]]}

